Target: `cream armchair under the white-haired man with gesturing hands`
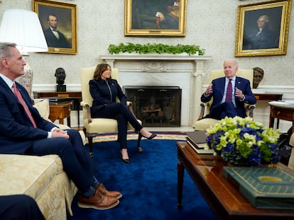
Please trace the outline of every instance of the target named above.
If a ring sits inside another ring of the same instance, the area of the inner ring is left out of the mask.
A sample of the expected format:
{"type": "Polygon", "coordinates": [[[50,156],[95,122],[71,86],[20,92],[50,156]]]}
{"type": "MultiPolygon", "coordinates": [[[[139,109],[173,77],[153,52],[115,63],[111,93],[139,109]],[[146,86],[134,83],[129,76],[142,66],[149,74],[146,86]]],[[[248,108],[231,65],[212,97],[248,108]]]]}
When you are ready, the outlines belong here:
{"type": "MultiPolygon", "coordinates": [[[[224,76],[224,70],[223,69],[217,69],[212,70],[209,75],[209,83],[213,79],[217,79],[224,76]]],[[[243,77],[244,79],[248,79],[250,81],[250,86],[252,88],[253,85],[253,78],[254,78],[254,71],[253,69],[238,69],[236,72],[236,76],[243,77]]],[[[215,125],[218,120],[215,120],[213,118],[204,118],[205,115],[209,114],[209,108],[212,105],[212,100],[210,100],[208,103],[200,103],[201,111],[200,116],[198,117],[197,121],[193,125],[195,130],[206,130],[210,126],[215,125]]],[[[255,105],[249,105],[245,104],[246,108],[246,115],[249,117],[253,117],[253,111],[255,108],[255,105]]]]}

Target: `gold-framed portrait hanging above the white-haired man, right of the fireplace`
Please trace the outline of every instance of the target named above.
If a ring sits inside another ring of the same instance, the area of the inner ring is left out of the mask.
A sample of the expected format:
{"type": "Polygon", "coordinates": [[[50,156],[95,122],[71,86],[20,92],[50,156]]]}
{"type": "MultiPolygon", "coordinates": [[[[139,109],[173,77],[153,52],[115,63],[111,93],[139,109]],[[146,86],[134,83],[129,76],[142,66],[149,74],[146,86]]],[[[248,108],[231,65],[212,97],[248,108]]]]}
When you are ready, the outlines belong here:
{"type": "Polygon", "coordinates": [[[290,10],[291,0],[239,6],[235,57],[286,54],[290,10]],[[258,25],[263,28],[258,28],[258,25]]]}

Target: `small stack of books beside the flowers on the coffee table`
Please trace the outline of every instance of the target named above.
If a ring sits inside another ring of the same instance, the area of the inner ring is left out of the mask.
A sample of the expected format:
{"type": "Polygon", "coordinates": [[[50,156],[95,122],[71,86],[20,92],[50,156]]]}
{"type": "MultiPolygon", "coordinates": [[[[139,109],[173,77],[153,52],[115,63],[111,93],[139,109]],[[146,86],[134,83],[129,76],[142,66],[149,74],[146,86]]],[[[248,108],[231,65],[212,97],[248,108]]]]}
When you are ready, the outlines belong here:
{"type": "Polygon", "coordinates": [[[197,154],[213,154],[213,149],[206,149],[206,138],[207,134],[206,131],[194,131],[194,132],[186,132],[187,134],[187,144],[192,146],[197,154]]]}

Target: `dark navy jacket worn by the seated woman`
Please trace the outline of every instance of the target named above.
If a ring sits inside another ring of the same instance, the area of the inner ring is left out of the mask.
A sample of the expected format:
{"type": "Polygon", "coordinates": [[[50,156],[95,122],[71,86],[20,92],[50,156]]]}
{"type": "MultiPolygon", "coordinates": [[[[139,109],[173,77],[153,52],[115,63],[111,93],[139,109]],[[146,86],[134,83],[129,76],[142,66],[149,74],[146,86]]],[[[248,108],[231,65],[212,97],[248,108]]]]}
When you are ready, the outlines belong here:
{"type": "Polygon", "coordinates": [[[89,91],[93,98],[91,111],[95,112],[103,108],[104,105],[116,103],[116,97],[122,104],[126,105],[126,95],[121,90],[121,86],[115,79],[92,79],[89,81],[89,91]]]}

